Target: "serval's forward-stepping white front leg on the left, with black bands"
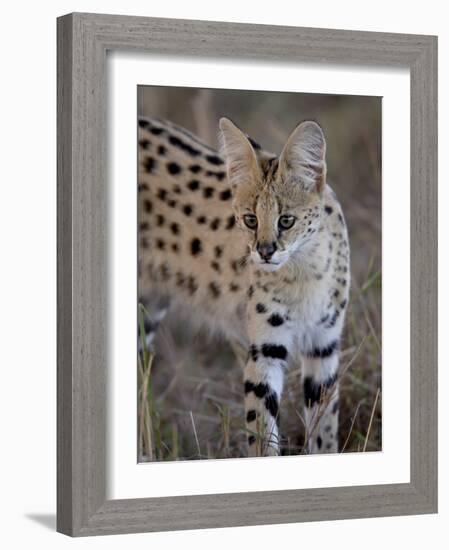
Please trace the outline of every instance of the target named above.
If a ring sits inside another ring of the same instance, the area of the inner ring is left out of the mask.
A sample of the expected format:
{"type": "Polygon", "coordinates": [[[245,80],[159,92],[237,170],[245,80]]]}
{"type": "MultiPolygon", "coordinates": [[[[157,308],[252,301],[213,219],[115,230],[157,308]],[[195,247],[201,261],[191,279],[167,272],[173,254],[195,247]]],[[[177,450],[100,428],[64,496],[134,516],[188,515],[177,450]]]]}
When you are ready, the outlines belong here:
{"type": "Polygon", "coordinates": [[[268,300],[249,306],[250,349],[244,369],[249,456],[279,454],[279,404],[291,334],[286,311],[268,300]]]}

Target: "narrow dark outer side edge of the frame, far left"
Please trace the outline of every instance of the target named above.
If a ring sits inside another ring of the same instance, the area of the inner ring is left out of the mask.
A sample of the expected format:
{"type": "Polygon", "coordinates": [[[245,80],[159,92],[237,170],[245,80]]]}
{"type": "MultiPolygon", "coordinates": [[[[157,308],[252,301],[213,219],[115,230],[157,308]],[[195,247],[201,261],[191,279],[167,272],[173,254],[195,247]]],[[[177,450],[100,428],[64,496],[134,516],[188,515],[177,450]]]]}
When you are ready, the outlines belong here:
{"type": "Polygon", "coordinates": [[[58,21],[57,157],[57,529],[72,530],[72,20],[58,21]]]}

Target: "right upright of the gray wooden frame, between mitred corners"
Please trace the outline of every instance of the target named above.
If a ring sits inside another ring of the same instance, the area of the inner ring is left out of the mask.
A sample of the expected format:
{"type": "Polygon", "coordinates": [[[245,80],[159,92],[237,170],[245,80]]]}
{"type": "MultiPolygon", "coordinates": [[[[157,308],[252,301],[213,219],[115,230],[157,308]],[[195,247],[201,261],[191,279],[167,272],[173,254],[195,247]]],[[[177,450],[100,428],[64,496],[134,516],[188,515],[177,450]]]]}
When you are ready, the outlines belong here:
{"type": "Polygon", "coordinates": [[[410,69],[411,479],[437,508],[437,42],[410,69]]]}

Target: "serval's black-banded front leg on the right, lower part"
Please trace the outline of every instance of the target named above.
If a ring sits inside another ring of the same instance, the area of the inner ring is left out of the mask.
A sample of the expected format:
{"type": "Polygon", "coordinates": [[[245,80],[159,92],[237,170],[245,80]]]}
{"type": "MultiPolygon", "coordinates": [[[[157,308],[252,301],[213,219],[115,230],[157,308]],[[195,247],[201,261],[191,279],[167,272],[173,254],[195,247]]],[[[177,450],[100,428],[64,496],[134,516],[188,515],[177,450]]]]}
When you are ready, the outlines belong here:
{"type": "Polygon", "coordinates": [[[309,453],[338,452],[338,340],[303,355],[304,418],[309,453]]]}

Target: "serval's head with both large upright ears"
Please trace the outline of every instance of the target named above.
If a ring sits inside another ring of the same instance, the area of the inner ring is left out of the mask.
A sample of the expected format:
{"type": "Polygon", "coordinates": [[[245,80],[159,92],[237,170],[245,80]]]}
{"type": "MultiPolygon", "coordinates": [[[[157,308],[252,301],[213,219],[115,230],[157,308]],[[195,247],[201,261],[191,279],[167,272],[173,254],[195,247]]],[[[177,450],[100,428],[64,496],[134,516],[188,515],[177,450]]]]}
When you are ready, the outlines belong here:
{"type": "Polygon", "coordinates": [[[318,233],[326,184],[323,132],[316,122],[302,122],[276,157],[227,118],[220,130],[237,223],[247,232],[253,262],[275,271],[318,233]]]}

